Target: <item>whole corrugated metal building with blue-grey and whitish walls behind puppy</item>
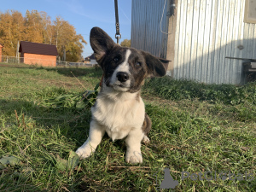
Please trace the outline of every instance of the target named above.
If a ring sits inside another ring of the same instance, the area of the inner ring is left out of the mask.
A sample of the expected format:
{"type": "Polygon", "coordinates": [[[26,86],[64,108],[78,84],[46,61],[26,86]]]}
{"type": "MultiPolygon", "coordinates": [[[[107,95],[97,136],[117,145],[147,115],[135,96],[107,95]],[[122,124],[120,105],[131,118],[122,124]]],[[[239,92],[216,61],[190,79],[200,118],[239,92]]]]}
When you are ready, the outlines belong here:
{"type": "Polygon", "coordinates": [[[131,47],[170,60],[175,79],[243,84],[242,63],[256,60],[255,10],[249,0],[132,0],[131,47]]]}

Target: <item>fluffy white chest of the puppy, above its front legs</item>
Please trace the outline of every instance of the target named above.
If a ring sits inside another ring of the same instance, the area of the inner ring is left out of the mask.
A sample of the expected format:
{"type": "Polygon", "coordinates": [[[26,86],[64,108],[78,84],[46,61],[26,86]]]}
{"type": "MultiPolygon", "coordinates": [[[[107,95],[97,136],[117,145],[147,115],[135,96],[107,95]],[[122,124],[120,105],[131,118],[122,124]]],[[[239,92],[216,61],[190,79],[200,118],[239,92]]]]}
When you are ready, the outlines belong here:
{"type": "Polygon", "coordinates": [[[140,129],[143,125],[145,109],[140,100],[112,101],[99,97],[96,106],[91,108],[92,118],[104,125],[108,136],[113,140],[128,135],[131,129],[140,129]]]}

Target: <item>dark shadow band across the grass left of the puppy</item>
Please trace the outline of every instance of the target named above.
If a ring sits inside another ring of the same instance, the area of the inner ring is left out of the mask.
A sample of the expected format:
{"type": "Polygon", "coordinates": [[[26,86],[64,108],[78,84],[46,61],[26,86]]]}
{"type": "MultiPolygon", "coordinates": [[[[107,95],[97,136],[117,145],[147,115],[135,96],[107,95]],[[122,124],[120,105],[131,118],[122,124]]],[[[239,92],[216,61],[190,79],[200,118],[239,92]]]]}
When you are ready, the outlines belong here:
{"type": "Polygon", "coordinates": [[[83,143],[89,132],[90,108],[51,108],[40,103],[0,100],[0,124],[18,127],[43,127],[60,131],[61,136],[83,143]],[[3,121],[3,122],[1,122],[3,121]],[[4,123],[8,122],[8,123],[4,123]]]}

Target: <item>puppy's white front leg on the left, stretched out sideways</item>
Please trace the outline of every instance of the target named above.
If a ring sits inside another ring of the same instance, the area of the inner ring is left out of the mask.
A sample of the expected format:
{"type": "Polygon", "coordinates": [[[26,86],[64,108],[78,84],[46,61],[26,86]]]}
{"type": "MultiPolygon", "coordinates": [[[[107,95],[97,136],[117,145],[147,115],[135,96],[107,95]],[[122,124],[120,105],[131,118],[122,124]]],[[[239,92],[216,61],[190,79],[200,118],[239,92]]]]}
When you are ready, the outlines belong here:
{"type": "Polygon", "coordinates": [[[96,123],[95,120],[91,120],[89,137],[86,142],[77,149],[76,154],[78,154],[81,158],[90,157],[90,154],[95,152],[96,147],[101,143],[105,131],[106,130],[102,125],[96,123]]]}

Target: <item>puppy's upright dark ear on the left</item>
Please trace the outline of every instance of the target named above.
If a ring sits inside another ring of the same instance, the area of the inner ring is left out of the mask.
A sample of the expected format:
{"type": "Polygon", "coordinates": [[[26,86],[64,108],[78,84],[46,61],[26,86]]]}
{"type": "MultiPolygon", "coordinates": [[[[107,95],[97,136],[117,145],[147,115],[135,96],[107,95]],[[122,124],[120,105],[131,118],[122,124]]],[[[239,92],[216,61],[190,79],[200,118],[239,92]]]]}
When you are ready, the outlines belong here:
{"type": "Polygon", "coordinates": [[[96,61],[102,67],[102,61],[104,60],[105,55],[108,53],[109,49],[112,49],[115,43],[113,39],[108,36],[99,27],[93,27],[90,30],[90,46],[94,51],[96,61]]]}

